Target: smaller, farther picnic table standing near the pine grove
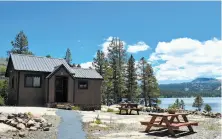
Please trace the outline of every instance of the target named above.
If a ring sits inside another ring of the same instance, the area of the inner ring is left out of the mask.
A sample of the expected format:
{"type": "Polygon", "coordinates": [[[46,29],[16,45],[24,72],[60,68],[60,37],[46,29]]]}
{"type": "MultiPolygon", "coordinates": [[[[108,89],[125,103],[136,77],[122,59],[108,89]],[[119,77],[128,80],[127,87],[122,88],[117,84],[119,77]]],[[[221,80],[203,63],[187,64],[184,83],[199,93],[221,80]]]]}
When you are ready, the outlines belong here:
{"type": "Polygon", "coordinates": [[[121,103],[119,104],[119,114],[121,114],[122,110],[126,111],[126,114],[131,114],[132,111],[137,111],[137,114],[139,115],[140,109],[138,108],[138,104],[136,103],[121,103]],[[129,113],[128,113],[129,111],[129,113]]]}

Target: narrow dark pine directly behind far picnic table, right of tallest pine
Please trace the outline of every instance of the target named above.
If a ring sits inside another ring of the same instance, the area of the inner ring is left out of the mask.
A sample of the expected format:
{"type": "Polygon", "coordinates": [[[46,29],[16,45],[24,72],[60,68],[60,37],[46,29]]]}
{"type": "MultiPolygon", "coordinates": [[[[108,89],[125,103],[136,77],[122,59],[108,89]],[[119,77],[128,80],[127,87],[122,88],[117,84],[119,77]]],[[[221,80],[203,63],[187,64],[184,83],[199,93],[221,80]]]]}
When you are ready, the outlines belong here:
{"type": "Polygon", "coordinates": [[[135,59],[133,58],[133,55],[130,56],[127,62],[126,87],[128,101],[135,100],[135,98],[137,97],[137,74],[135,68],[135,59]]]}

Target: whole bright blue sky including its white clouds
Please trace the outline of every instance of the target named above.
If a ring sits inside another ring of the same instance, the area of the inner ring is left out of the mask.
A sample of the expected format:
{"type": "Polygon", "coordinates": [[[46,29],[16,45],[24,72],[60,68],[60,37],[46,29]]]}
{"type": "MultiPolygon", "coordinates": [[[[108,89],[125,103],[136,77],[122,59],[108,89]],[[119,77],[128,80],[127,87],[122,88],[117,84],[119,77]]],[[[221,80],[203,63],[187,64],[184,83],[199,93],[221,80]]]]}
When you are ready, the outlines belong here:
{"type": "Polygon", "coordinates": [[[23,30],[37,56],[87,68],[112,37],[145,57],[159,83],[222,76],[220,2],[0,2],[0,57],[23,30]]]}

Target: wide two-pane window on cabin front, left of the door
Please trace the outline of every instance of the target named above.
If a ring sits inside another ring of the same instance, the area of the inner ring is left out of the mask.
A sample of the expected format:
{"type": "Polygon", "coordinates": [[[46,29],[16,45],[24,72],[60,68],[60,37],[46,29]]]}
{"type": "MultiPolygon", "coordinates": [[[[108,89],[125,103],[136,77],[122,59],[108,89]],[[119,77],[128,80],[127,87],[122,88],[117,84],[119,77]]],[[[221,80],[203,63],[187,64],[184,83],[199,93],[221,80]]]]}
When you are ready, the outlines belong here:
{"type": "Polygon", "coordinates": [[[33,88],[41,87],[41,76],[25,75],[25,87],[33,87],[33,88]]]}

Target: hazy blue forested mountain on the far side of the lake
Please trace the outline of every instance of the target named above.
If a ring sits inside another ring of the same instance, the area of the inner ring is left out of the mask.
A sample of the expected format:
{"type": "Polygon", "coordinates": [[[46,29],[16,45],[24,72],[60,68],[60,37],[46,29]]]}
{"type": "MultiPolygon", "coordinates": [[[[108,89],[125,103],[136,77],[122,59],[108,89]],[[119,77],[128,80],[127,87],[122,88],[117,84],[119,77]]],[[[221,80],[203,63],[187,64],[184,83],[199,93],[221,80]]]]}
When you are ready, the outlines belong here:
{"type": "Polygon", "coordinates": [[[191,94],[204,94],[205,96],[221,95],[221,80],[214,78],[196,78],[191,82],[160,84],[161,95],[190,96],[191,94]]]}

